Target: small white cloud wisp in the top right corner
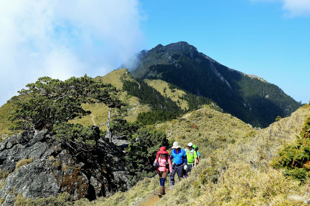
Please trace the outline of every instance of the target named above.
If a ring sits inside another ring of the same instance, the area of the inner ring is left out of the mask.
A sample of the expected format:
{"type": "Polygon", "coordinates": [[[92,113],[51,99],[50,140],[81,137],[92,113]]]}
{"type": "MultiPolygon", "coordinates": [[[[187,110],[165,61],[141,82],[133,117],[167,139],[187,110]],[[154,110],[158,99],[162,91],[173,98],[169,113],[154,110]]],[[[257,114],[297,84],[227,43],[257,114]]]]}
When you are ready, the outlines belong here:
{"type": "Polygon", "coordinates": [[[286,15],[309,16],[310,15],[310,0],[251,0],[252,2],[281,2],[283,10],[287,11],[286,15]]]}

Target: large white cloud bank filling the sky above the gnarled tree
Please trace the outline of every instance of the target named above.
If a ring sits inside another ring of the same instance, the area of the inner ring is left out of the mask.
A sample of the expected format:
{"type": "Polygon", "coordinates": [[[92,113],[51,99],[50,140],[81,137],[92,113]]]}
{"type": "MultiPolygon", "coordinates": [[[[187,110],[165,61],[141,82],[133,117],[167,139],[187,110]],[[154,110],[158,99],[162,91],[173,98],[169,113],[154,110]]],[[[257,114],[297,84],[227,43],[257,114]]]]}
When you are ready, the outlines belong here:
{"type": "Polygon", "coordinates": [[[40,76],[104,75],[143,49],[138,0],[0,2],[0,105],[40,76]]]}

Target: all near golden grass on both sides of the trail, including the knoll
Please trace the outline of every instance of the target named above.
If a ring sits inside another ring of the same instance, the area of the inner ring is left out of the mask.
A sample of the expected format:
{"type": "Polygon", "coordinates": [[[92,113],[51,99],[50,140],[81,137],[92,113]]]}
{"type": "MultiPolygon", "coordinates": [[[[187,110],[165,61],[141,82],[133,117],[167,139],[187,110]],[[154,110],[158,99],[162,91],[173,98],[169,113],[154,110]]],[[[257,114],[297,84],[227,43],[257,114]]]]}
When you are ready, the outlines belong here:
{"type": "MultiPolygon", "coordinates": [[[[270,161],[284,144],[295,140],[308,115],[307,105],[290,117],[255,131],[229,114],[202,108],[185,118],[157,125],[183,146],[188,141],[198,144],[203,159],[188,178],[176,183],[156,205],[305,205],[310,200],[310,182],[299,185],[281,170],[270,167],[270,161]],[[191,126],[192,122],[198,130],[191,126]]],[[[153,181],[145,178],[125,193],[77,203],[139,204],[139,198],[153,193],[153,181]]]]}

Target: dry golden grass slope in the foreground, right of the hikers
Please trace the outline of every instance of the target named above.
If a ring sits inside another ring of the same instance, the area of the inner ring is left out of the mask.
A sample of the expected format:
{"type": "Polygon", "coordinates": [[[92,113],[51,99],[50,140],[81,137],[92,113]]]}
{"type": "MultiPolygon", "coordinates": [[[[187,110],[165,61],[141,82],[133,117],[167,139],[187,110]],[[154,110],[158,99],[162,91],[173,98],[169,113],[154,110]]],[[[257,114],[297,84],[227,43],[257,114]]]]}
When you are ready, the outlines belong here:
{"type": "Polygon", "coordinates": [[[281,170],[270,167],[270,161],[284,144],[295,140],[308,115],[309,106],[302,107],[290,117],[258,131],[253,138],[239,138],[236,143],[215,150],[157,205],[305,205],[310,201],[309,181],[300,185],[281,170]],[[215,183],[208,180],[208,174],[201,181],[209,166],[217,170],[215,183]],[[185,185],[189,187],[185,189],[185,185]],[[179,195],[186,192],[188,195],[179,195]]]}

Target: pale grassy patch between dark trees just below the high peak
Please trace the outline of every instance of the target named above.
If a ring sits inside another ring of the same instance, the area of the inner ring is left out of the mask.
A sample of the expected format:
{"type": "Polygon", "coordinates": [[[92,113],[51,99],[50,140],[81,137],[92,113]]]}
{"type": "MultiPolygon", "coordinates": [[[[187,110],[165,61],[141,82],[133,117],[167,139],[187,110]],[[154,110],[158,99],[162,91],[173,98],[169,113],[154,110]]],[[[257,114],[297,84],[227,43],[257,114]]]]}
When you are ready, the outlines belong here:
{"type": "Polygon", "coordinates": [[[184,91],[175,89],[175,92],[171,92],[171,89],[169,88],[169,85],[167,82],[160,80],[160,79],[144,79],[148,85],[155,88],[158,92],[160,92],[162,95],[167,95],[167,97],[170,97],[173,101],[180,102],[179,106],[181,109],[184,109],[185,107],[188,109],[187,101],[180,99],[179,97],[182,97],[183,94],[185,94],[184,91]],[[164,88],[166,87],[166,91],[164,92],[164,88]]]}

